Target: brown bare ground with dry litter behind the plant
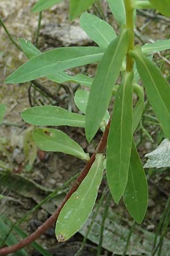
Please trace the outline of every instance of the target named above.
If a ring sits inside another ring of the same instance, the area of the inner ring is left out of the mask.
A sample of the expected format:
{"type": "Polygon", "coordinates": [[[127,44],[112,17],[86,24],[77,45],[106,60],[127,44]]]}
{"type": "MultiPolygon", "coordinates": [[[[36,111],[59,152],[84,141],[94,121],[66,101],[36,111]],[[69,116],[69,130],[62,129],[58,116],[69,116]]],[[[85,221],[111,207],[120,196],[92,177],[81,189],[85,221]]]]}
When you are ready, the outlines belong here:
{"type": "MultiPolygon", "coordinates": [[[[0,2],[1,18],[5,22],[10,34],[13,35],[15,39],[25,38],[27,40],[31,40],[32,43],[35,43],[38,15],[31,13],[31,7],[34,4],[35,1],[33,0],[14,0],[12,2],[9,0],[2,0],[0,2]]],[[[70,23],[68,7],[69,5],[67,1],[61,2],[52,9],[44,11],[42,14],[42,27],[39,42],[41,51],[68,45],[94,45],[94,43],[92,43],[91,40],[83,34],[82,40],[81,38],[77,38],[76,34],[76,40],[74,40],[73,37],[70,39],[68,36],[62,36],[62,30],[65,31],[65,35],[67,35],[67,32],[70,30],[68,24],[69,26],[75,27],[78,27],[79,24],[79,19],[76,19],[74,22],[70,23]]],[[[118,25],[112,18],[105,1],[103,7],[105,14],[107,14],[107,20],[112,24],[114,29],[118,31],[118,25]]],[[[150,42],[150,39],[158,40],[169,38],[169,25],[167,21],[163,19],[159,19],[158,21],[155,19],[148,19],[148,16],[145,17],[139,15],[137,21],[137,31],[138,28],[141,34],[139,39],[137,39],[137,43],[140,44],[141,39],[144,42],[150,42]]],[[[33,153],[31,152],[31,156],[30,153],[25,156],[24,138],[26,136],[25,132],[30,133],[30,129],[32,129],[32,127],[22,121],[20,113],[24,109],[30,108],[30,101],[33,105],[41,105],[41,102],[49,104],[49,98],[42,96],[42,94],[31,88],[29,83],[10,85],[3,82],[12,71],[27,61],[27,58],[10,42],[2,27],[0,27],[0,33],[1,52],[3,52],[0,56],[0,102],[7,105],[5,120],[0,129],[0,193],[3,196],[0,201],[0,213],[1,216],[2,214],[6,215],[12,222],[16,222],[19,221],[28,210],[31,210],[33,207],[39,204],[40,201],[43,200],[45,196],[49,195],[50,192],[53,192],[54,189],[61,187],[67,180],[78,174],[78,172],[82,170],[84,162],[82,160],[75,159],[73,156],[44,153],[36,148],[35,152],[33,152],[35,155],[37,154],[33,167],[30,168],[28,165],[28,158],[32,157],[33,153]],[[7,176],[7,171],[11,172],[10,177],[7,176]],[[8,182],[9,180],[11,183],[8,182]]],[[[163,53],[163,56],[167,55],[167,52],[163,53]]],[[[162,61],[161,56],[155,56],[155,60],[159,63],[159,60],[162,61]]],[[[161,61],[159,64],[161,64],[161,61]]],[[[88,73],[88,75],[94,75],[95,69],[96,65],[90,65],[84,69],[82,68],[81,71],[88,73]]],[[[168,74],[168,69],[169,65],[165,62],[163,65],[164,75],[168,74]]],[[[79,72],[79,69],[74,69],[70,72],[75,74],[79,72]]],[[[47,81],[46,79],[39,80],[39,83],[45,86],[45,88],[48,88],[53,94],[57,94],[58,92],[58,100],[56,102],[57,105],[69,110],[72,109],[74,112],[78,111],[73,101],[73,94],[76,89],[75,85],[66,84],[65,86],[59,86],[53,82],[47,81]]],[[[51,99],[50,101],[52,101],[54,104],[54,99],[51,99]]],[[[112,106],[110,110],[112,111],[112,106]]],[[[147,114],[154,115],[150,106],[148,107],[147,114]]],[[[142,143],[139,145],[138,150],[143,163],[145,163],[145,154],[158,146],[160,141],[162,141],[162,133],[159,127],[148,124],[146,120],[143,123],[145,124],[147,132],[153,139],[153,142],[151,142],[151,139],[148,138],[145,131],[143,132],[142,143]]],[[[97,146],[97,142],[99,142],[101,137],[101,133],[99,132],[95,140],[88,145],[83,129],[69,127],[60,128],[65,131],[65,133],[69,134],[71,138],[75,139],[75,141],[79,142],[84,150],[90,152],[90,154],[94,151],[95,147],[97,146]]],[[[141,129],[138,129],[137,133],[135,134],[136,141],[139,141],[140,136],[141,129]]],[[[146,170],[146,172],[148,173],[148,170],[146,170]]],[[[142,229],[145,229],[146,232],[149,231],[149,236],[150,234],[154,234],[156,231],[156,227],[158,226],[167,197],[169,195],[169,170],[165,170],[164,172],[156,172],[156,174],[148,180],[148,184],[150,190],[150,199],[148,204],[148,212],[145,221],[142,224],[142,229]]],[[[105,185],[106,181],[104,180],[100,188],[98,200],[102,195],[105,185]]],[[[69,187],[70,185],[67,185],[65,188],[62,188],[53,200],[43,204],[39,210],[30,215],[27,218],[27,221],[23,222],[20,227],[27,233],[35,230],[42,221],[45,221],[46,218],[53,213],[54,209],[63,199],[63,196],[69,187]]],[[[123,203],[121,202],[121,204],[117,207],[117,205],[112,202],[110,211],[117,214],[116,216],[119,216],[117,220],[117,236],[125,236],[125,233],[128,232],[129,226],[131,226],[131,218],[126,212],[123,203]],[[122,227],[126,228],[126,230],[124,230],[124,234],[121,234],[122,227]]],[[[99,223],[101,220],[101,214],[102,210],[101,213],[98,214],[99,223]]],[[[114,217],[117,218],[116,216],[114,217]]],[[[95,225],[97,226],[97,224],[95,225]]],[[[115,228],[114,222],[113,227],[115,228]]],[[[82,229],[80,232],[83,234],[83,236],[86,234],[86,229],[87,227],[84,227],[84,229],[82,229]]],[[[109,227],[105,226],[105,230],[105,232],[108,232],[109,227]]],[[[91,236],[88,237],[90,240],[88,241],[87,246],[84,248],[81,255],[95,255],[95,232],[96,231],[94,229],[94,233],[91,233],[91,236]]],[[[139,230],[139,227],[137,227],[135,230],[135,233],[137,236],[139,236],[141,243],[144,241],[143,236],[146,236],[146,233],[143,234],[142,232],[143,230],[139,230]]],[[[110,233],[107,233],[108,237],[109,234],[110,233]]],[[[111,243],[114,238],[116,238],[116,232],[113,232],[113,235],[114,236],[111,237],[111,243]]],[[[78,233],[69,241],[69,243],[66,243],[64,246],[58,245],[52,229],[49,230],[49,233],[41,236],[41,238],[39,238],[37,241],[49,249],[53,256],[71,256],[74,255],[79,249],[83,236],[78,233]]],[[[170,238],[169,236],[170,234],[167,233],[167,238],[170,238]]],[[[136,238],[133,237],[133,239],[135,240],[136,238]]],[[[123,240],[125,240],[124,243],[126,244],[126,236],[123,240]]],[[[167,240],[165,249],[169,248],[169,244],[170,242],[167,240]]],[[[112,251],[111,246],[107,246],[108,245],[106,243],[104,246],[105,250],[102,252],[103,255],[112,255],[111,253],[109,254],[108,250],[106,250],[106,248],[109,247],[109,250],[112,251]]],[[[143,246],[145,247],[145,245],[143,246]]],[[[147,246],[149,245],[147,244],[147,246]]],[[[133,250],[133,242],[131,242],[131,248],[131,250],[133,250]]],[[[123,249],[124,247],[122,245],[121,250],[123,251],[123,249]]],[[[26,250],[28,251],[29,255],[40,255],[35,253],[35,249],[32,249],[32,247],[28,247],[26,250]]],[[[117,253],[120,255],[119,252],[117,253]]],[[[165,252],[164,255],[170,254],[165,252]]]]}

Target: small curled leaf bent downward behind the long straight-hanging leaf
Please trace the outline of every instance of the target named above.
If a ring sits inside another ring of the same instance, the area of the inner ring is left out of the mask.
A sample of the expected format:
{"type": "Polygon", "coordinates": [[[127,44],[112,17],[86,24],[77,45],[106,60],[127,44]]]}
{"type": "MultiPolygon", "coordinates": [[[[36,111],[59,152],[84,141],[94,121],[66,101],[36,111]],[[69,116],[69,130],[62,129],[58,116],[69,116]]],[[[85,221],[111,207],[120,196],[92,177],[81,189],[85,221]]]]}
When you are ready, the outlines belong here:
{"type": "Polygon", "coordinates": [[[145,95],[143,92],[143,89],[140,85],[134,84],[133,85],[134,92],[139,97],[139,100],[137,101],[137,104],[135,105],[135,108],[133,109],[133,133],[137,129],[139,122],[141,121],[141,117],[143,114],[143,105],[145,101],[145,95]]]}

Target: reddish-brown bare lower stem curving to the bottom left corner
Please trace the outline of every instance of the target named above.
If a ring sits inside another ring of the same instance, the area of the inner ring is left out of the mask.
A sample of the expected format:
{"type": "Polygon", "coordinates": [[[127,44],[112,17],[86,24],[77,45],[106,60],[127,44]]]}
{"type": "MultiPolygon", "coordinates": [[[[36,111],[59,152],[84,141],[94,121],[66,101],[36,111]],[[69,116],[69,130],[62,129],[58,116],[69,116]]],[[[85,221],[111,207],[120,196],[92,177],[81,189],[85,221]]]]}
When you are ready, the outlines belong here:
{"type": "Polygon", "coordinates": [[[54,212],[53,215],[50,218],[48,218],[48,220],[46,220],[44,222],[44,224],[39,226],[39,228],[35,232],[33,232],[30,236],[28,236],[27,238],[23,239],[19,243],[16,243],[15,245],[3,247],[2,249],[0,249],[0,256],[7,255],[9,253],[14,253],[15,251],[18,251],[18,250],[24,248],[25,246],[27,246],[30,243],[32,243],[33,241],[35,241],[38,237],[41,236],[41,234],[45,233],[52,225],[54,225],[56,223],[58,215],[61,212],[61,209],[65,205],[66,201],[69,200],[70,196],[73,195],[73,193],[76,191],[76,189],[78,189],[79,185],[82,183],[83,179],[86,177],[86,175],[90,171],[92,164],[95,162],[96,154],[104,152],[106,144],[107,144],[110,125],[111,125],[111,119],[108,122],[108,125],[104,131],[103,137],[101,138],[100,143],[97,146],[94,154],[92,154],[90,160],[88,160],[88,162],[86,163],[86,166],[83,168],[82,172],[77,177],[73,187],[67,193],[65,199],[62,201],[61,205],[59,205],[56,212],[54,212]]]}

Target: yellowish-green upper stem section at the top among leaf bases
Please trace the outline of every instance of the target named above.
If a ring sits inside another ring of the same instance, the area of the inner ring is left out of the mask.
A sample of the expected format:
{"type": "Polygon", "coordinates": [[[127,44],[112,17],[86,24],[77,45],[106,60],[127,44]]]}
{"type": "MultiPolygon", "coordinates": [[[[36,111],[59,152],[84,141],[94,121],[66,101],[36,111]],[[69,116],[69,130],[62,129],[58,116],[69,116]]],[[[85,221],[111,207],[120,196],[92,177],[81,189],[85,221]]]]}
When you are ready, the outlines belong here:
{"type": "MultiPolygon", "coordinates": [[[[134,49],[134,6],[133,0],[124,0],[126,10],[126,26],[130,28],[130,42],[129,50],[134,49]]],[[[127,54],[126,59],[126,71],[131,72],[133,70],[134,60],[127,54]]]]}

